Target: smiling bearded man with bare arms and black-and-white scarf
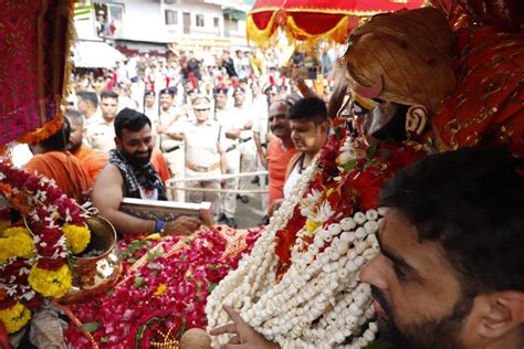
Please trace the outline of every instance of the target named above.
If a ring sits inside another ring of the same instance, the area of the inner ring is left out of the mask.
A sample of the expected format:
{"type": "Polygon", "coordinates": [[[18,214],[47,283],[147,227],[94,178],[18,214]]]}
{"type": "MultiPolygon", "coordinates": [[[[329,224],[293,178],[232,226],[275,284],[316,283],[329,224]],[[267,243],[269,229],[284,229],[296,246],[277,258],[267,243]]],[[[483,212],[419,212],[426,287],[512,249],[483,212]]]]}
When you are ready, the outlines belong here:
{"type": "Polygon", "coordinates": [[[136,110],[125,108],[115,119],[116,149],[93,188],[93,205],[119,233],[188,234],[200,220],[179,216],[174,221],[145,220],[119,211],[123,198],[167,200],[166,188],[150,163],[155,140],[151,121],[136,110]]]}

